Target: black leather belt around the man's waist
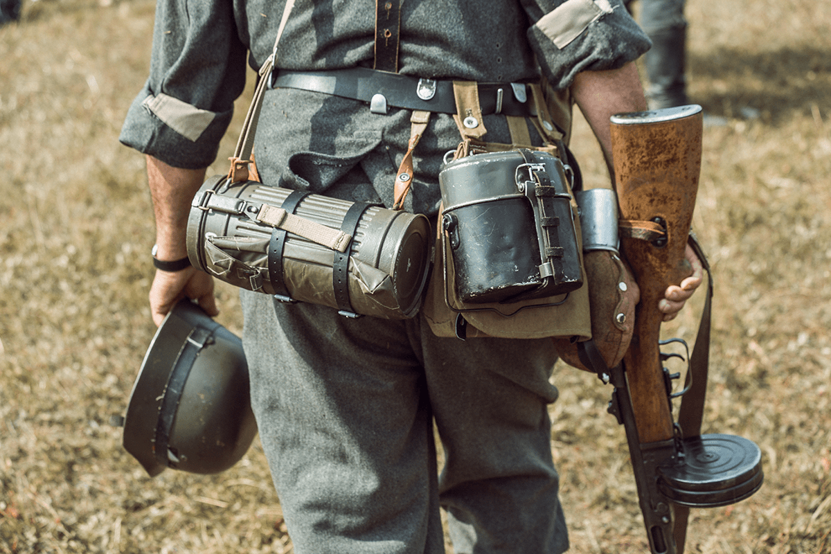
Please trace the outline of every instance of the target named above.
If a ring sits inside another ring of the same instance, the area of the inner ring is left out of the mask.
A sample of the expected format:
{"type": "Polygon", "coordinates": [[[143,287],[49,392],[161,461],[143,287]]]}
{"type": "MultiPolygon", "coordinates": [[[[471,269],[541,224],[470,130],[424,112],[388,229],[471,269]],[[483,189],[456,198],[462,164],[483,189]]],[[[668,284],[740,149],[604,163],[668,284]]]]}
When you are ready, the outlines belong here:
{"type": "MultiPolygon", "coordinates": [[[[389,108],[456,113],[453,81],[419,79],[366,67],[332,71],[277,70],[272,74],[271,88],[352,98],[366,102],[373,113],[379,114],[386,114],[389,108]]],[[[533,98],[522,83],[479,83],[479,105],[483,115],[536,115],[533,98]]]]}

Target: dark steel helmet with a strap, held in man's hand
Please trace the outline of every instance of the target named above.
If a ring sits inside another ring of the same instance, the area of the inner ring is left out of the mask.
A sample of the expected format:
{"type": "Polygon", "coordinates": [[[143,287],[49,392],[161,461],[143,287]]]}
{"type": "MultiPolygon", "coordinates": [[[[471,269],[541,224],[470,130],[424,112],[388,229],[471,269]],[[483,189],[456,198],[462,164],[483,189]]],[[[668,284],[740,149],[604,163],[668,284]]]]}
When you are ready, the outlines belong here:
{"type": "Polygon", "coordinates": [[[124,448],[150,477],[219,473],[251,446],[248,365],[238,336],[185,299],[145,354],[124,418],[124,448]]]}

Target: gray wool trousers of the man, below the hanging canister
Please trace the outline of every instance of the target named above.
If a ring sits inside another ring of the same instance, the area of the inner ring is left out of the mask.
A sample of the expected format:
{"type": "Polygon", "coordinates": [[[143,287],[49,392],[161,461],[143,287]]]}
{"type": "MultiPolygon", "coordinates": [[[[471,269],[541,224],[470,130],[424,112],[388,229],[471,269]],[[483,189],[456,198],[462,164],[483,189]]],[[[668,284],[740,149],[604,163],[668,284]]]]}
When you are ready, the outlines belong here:
{"type": "Polygon", "coordinates": [[[251,401],[297,554],[568,549],[551,342],[439,338],[242,292],[251,401]],[[445,452],[439,473],[435,429],[445,452]]]}

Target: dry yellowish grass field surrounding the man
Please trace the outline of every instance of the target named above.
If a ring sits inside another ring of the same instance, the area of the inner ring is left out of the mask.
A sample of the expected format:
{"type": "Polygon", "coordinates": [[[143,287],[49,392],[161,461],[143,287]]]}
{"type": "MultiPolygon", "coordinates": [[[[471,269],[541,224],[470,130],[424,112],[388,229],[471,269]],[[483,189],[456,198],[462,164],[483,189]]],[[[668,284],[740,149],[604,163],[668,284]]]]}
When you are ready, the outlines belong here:
{"type": "MultiPolygon", "coordinates": [[[[0,554],[292,550],[256,441],[218,476],[150,479],[108,424],[154,331],[143,160],[117,142],[153,10],[39,0],[0,28],[0,554]]],[[[705,430],[755,440],[765,464],[754,497],[692,512],[688,552],[831,552],[831,15],[811,0],[690,0],[687,15],[708,115],[705,430]]],[[[579,121],[573,145],[604,179],[579,121]]],[[[667,336],[693,341],[701,296],[667,336]]],[[[238,332],[236,292],[219,297],[238,332]]],[[[572,552],[647,552],[611,390],[566,366],[554,380],[572,552]]]]}

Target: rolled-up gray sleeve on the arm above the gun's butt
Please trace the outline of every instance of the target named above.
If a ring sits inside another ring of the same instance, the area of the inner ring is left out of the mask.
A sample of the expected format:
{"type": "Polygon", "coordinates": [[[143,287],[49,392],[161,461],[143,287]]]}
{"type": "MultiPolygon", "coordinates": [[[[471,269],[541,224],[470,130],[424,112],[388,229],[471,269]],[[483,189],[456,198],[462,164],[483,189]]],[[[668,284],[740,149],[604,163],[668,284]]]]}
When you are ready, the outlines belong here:
{"type": "Polygon", "coordinates": [[[552,86],[580,71],[617,69],[652,46],[619,0],[523,0],[528,38],[552,86]]]}

